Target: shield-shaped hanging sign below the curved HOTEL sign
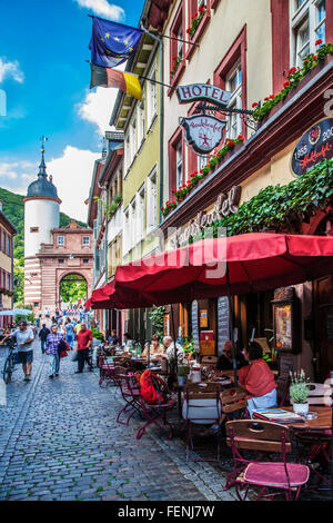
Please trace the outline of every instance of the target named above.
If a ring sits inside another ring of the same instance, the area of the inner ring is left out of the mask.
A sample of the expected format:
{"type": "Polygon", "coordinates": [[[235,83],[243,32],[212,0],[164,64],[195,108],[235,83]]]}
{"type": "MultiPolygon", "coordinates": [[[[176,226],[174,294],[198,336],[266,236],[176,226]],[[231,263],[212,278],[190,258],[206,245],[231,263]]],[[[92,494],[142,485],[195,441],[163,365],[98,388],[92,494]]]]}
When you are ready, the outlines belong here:
{"type": "Polygon", "coordinates": [[[211,152],[222,140],[225,121],[209,115],[180,119],[186,144],[199,155],[211,152]]]}

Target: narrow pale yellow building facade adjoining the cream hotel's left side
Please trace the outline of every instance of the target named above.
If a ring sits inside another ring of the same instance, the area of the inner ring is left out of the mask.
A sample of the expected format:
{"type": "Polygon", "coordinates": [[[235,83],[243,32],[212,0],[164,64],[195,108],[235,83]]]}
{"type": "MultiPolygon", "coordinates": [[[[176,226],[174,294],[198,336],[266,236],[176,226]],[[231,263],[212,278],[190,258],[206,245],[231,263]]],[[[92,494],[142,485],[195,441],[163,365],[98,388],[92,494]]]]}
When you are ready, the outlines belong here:
{"type": "MultiPolygon", "coordinates": [[[[133,262],[160,249],[163,170],[163,48],[144,34],[127,70],[142,76],[142,100],[119,92],[110,125],[124,134],[122,262],[133,262]],[[152,79],[152,81],[149,81],[152,79]],[[160,82],[160,83],[159,83],[160,82]]],[[[112,230],[112,227],[111,227],[112,230]]],[[[149,309],[122,313],[131,337],[144,343],[152,333],[149,309]]]]}

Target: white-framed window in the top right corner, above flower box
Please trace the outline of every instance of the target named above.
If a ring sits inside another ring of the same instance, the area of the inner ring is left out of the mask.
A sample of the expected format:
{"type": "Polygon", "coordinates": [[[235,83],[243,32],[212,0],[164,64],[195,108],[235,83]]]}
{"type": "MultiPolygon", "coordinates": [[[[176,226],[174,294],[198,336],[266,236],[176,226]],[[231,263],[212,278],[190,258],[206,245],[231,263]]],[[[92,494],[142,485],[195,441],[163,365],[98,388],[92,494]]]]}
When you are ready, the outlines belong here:
{"type": "Polygon", "coordinates": [[[302,67],[304,58],[316,51],[315,42],[325,42],[325,0],[291,2],[291,65],[302,67]]]}

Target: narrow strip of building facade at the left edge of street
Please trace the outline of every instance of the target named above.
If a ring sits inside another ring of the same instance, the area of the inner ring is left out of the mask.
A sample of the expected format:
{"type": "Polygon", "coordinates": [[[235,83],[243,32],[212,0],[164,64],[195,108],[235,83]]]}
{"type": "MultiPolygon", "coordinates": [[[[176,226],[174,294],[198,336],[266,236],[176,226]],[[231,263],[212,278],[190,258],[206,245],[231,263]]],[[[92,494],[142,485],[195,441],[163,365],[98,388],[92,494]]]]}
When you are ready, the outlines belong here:
{"type": "MultiPolygon", "coordinates": [[[[2,211],[0,201],[0,310],[13,307],[13,237],[17,229],[2,211]]],[[[0,316],[0,327],[11,324],[12,316],[0,316]]]]}

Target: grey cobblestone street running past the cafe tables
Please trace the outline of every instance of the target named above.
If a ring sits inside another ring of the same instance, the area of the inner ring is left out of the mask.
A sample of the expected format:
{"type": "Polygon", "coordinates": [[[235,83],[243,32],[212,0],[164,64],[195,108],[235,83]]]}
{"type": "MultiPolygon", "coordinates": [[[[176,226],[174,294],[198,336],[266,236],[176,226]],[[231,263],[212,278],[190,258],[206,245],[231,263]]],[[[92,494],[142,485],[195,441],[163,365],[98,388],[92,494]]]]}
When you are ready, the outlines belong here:
{"type": "Polygon", "coordinates": [[[17,367],[0,406],[1,500],[235,500],[211,465],[185,462],[182,441],[150,430],[138,442],[139,420],[115,423],[115,389],[75,365],[65,358],[51,381],[36,342],[30,383],[17,367]]]}

